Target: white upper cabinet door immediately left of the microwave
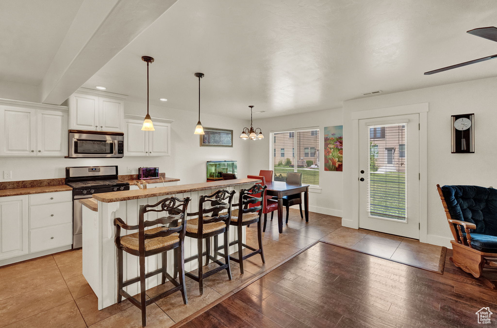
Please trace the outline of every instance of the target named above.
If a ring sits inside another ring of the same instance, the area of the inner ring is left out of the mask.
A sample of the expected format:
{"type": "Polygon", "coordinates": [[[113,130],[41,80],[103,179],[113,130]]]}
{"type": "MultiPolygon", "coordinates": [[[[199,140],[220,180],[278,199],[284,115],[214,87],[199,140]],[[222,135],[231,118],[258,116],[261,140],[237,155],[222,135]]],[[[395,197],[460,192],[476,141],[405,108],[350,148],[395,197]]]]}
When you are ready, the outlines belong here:
{"type": "Polygon", "coordinates": [[[37,156],[67,156],[68,116],[67,112],[37,111],[37,156]]]}

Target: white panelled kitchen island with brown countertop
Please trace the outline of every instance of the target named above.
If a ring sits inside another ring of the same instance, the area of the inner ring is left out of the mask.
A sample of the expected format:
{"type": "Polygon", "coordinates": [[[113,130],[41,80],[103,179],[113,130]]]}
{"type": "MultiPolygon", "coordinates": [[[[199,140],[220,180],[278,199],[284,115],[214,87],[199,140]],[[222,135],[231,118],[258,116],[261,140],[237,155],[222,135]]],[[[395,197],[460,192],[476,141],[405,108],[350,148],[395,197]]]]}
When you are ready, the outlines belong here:
{"type": "MultiPolygon", "coordinates": [[[[118,191],[113,193],[93,194],[98,201],[96,206],[83,206],[83,276],[91,289],[98,297],[98,310],[117,302],[117,264],[116,247],[114,244],[114,218],[120,217],[128,225],[138,224],[140,205],[154,204],[166,197],[190,197],[188,212],[198,211],[198,199],[201,195],[210,195],[219,189],[235,190],[237,194],[233,203],[238,202],[241,188],[249,188],[260,180],[235,179],[197,184],[158,187],[153,189],[140,189],[118,191]]],[[[149,212],[146,220],[154,220],[157,213],[149,212]]],[[[153,228],[153,227],[150,227],[153,228]]],[[[123,231],[122,234],[135,231],[123,231]]],[[[230,228],[230,242],[236,238],[235,227],[230,228]]],[[[245,227],[242,240],[245,243],[245,227]]],[[[211,243],[212,245],[212,243],[211,243]]],[[[220,240],[220,245],[223,245],[220,240]]],[[[197,254],[197,240],[185,237],[185,258],[197,254]]],[[[211,250],[212,251],[212,250],[211,250]]],[[[236,252],[237,246],[230,247],[230,253],[236,252]]],[[[124,253],[124,280],[139,276],[138,257],[124,253]]],[[[167,271],[172,273],[172,251],[167,254],[167,271]]],[[[205,258],[204,258],[205,261],[205,258]]],[[[150,256],[146,259],[147,272],[162,267],[161,254],[150,256]]],[[[185,270],[191,271],[198,268],[198,262],[185,263],[185,270]]],[[[228,279],[228,277],[226,277],[228,279]]],[[[161,276],[155,275],[146,279],[146,288],[150,289],[161,283],[161,276]]],[[[125,287],[130,295],[139,293],[139,282],[125,287]]]]}

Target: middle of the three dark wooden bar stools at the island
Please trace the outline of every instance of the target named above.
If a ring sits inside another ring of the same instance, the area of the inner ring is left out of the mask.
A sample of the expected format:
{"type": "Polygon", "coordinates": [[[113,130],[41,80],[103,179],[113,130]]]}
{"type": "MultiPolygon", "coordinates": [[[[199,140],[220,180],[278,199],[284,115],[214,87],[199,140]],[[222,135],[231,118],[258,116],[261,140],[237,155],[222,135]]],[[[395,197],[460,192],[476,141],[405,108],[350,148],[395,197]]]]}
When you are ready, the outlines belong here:
{"type": "Polygon", "coordinates": [[[186,272],[186,276],[198,281],[200,295],[204,293],[203,279],[216,272],[226,269],[228,278],[231,280],[230,256],[229,256],[229,228],[231,218],[231,204],[235,191],[218,190],[212,195],[202,195],[198,201],[198,212],[188,213],[188,216],[198,216],[186,222],[186,236],[197,239],[198,254],[185,259],[185,262],[198,260],[198,276],[186,272]],[[207,203],[207,204],[206,204],[207,203]],[[206,215],[209,214],[209,215],[206,215]],[[218,236],[224,234],[225,262],[217,260],[218,236]],[[210,255],[210,238],[214,236],[214,257],[210,255]],[[203,251],[202,241],[205,239],[206,252],[203,251]],[[219,267],[203,272],[202,258],[206,256],[206,264],[209,260],[219,264],[219,267]]]}

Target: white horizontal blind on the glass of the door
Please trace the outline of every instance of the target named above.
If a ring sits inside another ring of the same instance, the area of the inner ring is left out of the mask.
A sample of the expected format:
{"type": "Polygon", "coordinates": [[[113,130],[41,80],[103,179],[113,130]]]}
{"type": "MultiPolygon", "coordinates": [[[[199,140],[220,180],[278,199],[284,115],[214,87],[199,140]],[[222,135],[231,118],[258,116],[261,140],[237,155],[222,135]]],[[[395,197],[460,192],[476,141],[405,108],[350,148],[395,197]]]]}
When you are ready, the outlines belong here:
{"type": "Polygon", "coordinates": [[[369,126],[368,211],[371,216],[405,221],[406,126],[369,126]]]}

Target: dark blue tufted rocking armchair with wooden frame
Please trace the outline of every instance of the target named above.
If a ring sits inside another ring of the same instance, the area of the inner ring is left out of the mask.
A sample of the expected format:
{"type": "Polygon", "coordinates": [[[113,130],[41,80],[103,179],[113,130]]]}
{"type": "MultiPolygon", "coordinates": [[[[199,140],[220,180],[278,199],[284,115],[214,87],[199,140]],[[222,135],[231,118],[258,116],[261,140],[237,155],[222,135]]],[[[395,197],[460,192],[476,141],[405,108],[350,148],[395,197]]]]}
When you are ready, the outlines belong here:
{"type": "Polygon", "coordinates": [[[496,289],[482,271],[497,268],[497,189],[436,186],[454,236],[450,261],[496,289]]]}

